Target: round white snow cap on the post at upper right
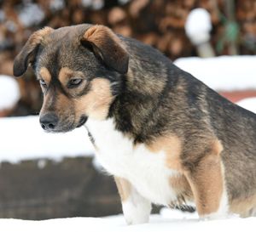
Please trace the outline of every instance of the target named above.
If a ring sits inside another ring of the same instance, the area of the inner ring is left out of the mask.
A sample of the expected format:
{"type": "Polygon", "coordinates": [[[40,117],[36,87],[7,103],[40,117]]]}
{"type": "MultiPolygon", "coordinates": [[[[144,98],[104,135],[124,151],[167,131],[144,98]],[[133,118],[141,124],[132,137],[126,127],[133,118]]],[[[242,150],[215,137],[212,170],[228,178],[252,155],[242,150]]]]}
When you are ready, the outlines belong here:
{"type": "Polygon", "coordinates": [[[185,31],[190,40],[195,44],[207,42],[212,30],[211,15],[204,8],[191,10],[185,23],[185,31]]]}

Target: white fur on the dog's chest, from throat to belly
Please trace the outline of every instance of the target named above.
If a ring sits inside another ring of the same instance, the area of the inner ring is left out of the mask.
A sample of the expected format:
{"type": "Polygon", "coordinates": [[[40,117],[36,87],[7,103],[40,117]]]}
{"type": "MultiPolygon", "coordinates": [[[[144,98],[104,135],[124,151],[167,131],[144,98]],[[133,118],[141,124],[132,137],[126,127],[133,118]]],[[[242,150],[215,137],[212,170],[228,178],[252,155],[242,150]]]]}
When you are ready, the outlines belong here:
{"type": "Polygon", "coordinates": [[[153,153],[143,144],[134,146],[131,139],[115,130],[112,119],[89,119],[86,127],[95,139],[96,156],[109,173],[128,179],[141,195],[156,204],[175,201],[169,180],[178,173],[166,167],[164,152],[153,153]]]}

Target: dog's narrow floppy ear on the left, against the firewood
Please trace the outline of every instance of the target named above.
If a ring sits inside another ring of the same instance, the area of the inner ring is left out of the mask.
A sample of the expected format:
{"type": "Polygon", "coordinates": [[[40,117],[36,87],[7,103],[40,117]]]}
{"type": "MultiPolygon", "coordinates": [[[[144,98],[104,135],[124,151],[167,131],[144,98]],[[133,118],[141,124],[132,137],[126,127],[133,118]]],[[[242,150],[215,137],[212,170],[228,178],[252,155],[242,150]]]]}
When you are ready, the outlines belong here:
{"type": "Polygon", "coordinates": [[[14,75],[21,76],[27,69],[29,64],[33,64],[36,58],[36,51],[38,45],[43,42],[45,36],[49,35],[54,29],[51,27],[44,27],[41,30],[34,32],[27,40],[20,54],[15,57],[14,61],[14,75]]]}

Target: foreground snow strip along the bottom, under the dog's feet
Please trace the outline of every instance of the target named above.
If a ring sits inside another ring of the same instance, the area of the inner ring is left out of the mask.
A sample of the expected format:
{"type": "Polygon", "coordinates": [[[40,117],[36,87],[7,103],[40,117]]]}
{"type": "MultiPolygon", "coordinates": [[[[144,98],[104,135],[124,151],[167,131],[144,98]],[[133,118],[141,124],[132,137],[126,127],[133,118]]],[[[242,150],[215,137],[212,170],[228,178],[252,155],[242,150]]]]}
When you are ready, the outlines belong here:
{"type": "Polygon", "coordinates": [[[216,231],[255,231],[256,218],[232,217],[222,220],[200,220],[195,213],[182,213],[167,210],[167,216],[151,215],[149,224],[126,225],[122,215],[105,218],[58,218],[43,221],[20,219],[0,219],[4,232],[44,232],[44,231],[89,231],[89,232],[216,232],[216,231]]]}

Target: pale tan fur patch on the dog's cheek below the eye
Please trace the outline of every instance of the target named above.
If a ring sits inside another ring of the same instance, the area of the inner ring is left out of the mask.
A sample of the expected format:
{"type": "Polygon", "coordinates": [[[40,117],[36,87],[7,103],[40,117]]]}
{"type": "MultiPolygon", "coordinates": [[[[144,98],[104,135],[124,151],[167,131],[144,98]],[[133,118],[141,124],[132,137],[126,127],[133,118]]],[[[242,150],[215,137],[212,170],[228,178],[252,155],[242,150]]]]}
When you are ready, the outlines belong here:
{"type": "Polygon", "coordinates": [[[103,120],[108,116],[108,109],[113,101],[110,82],[104,78],[96,78],[90,84],[89,93],[75,100],[77,115],[84,112],[91,118],[103,120]]]}

